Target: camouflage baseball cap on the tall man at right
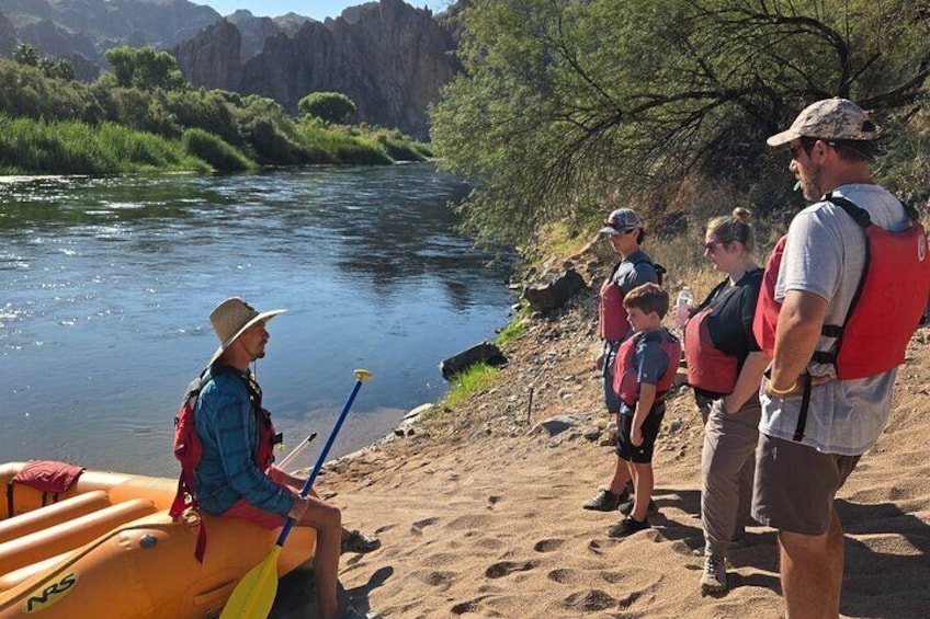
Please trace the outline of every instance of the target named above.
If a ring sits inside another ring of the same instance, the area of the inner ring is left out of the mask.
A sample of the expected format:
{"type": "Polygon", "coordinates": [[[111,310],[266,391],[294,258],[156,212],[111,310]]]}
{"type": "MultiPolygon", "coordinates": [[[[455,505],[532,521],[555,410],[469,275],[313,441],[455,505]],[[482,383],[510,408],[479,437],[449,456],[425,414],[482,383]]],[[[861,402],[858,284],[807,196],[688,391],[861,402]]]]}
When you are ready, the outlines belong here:
{"type": "Polygon", "coordinates": [[[781,146],[801,137],[835,140],[874,140],[882,133],[862,107],[848,99],[825,99],[797,115],[791,128],[765,142],[781,146]]]}

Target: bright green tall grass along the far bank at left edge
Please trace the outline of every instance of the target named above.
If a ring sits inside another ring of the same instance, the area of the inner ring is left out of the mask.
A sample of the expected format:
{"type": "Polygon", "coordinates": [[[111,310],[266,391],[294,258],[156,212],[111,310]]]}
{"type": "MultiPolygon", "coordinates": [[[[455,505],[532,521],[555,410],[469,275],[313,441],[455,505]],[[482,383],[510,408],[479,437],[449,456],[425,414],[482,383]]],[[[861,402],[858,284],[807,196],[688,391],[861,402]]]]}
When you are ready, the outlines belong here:
{"type": "Polygon", "coordinates": [[[0,171],[104,174],[209,169],[178,140],[114,123],[91,126],[0,115],[0,171]]]}

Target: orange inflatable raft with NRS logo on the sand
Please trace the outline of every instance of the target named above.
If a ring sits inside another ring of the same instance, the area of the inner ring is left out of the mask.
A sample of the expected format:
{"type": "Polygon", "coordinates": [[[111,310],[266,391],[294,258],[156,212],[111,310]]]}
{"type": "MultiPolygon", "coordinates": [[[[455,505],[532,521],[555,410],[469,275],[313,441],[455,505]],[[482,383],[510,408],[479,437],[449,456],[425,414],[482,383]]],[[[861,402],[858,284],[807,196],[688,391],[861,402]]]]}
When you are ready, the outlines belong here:
{"type": "MultiPolygon", "coordinates": [[[[279,531],[205,516],[173,523],[177,481],[83,471],[49,495],[10,483],[26,465],[0,465],[0,619],[218,617],[239,578],[264,559],[279,531]]],[[[277,562],[282,576],[313,555],[316,531],[295,527],[277,562]]]]}

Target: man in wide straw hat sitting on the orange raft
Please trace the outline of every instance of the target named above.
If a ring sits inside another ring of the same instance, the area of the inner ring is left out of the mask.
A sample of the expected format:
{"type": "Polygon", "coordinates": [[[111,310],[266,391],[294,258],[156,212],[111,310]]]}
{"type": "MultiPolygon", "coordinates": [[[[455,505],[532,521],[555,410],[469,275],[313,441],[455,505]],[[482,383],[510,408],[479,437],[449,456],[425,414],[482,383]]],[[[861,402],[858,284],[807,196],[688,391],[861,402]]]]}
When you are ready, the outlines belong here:
{"type": "MultiPolygon", "coordinates": [[[[246,518],[275,529],[294,518],[317,530],[314,573],[324,619],[339,617],[336,585],[340,540],[345,535],[339,509],[315,495],[302,497],[304,481],[271,466],[275,440],[261,408],[261,389],[249,364],[264,357],[265,323],[285,310],[258,312],[238,297],[211,313],[219,347],[202,377],[194,427],[203,454],[194,471],[196,502],[208,514],[246,518]]],[[[350,609],[349,617],[354,611],[350,609]]]]}

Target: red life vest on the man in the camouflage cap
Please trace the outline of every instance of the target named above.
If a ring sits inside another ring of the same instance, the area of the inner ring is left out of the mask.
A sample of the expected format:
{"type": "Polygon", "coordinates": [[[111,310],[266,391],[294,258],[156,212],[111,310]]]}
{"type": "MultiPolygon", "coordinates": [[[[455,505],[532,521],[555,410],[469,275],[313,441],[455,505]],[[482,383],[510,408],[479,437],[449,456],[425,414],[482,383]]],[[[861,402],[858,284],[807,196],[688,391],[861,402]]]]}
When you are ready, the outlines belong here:
{"type": "MultiPolygon", "coordinates": [[[[865,265],[843,324],[825,324],[821,333],[837,340],[836,352],[817,351],[812,360],[831,364],[837,378],[852,380],[886,372],[904,363],[905,348],[927,308],[930,260],[927,236],[917,214],[903,205],[912,225],[891,232],[872,223],[869,213],[850,200],[827,194],[865,232],[865,265]]],[[[775,244],[752,321],[756,340],[765,353],[775,347],[781,303],[775,282],[786,238],[775,244]]]]}

